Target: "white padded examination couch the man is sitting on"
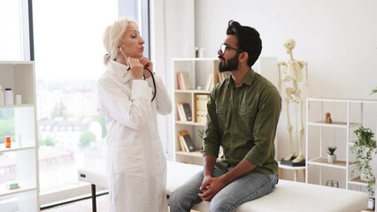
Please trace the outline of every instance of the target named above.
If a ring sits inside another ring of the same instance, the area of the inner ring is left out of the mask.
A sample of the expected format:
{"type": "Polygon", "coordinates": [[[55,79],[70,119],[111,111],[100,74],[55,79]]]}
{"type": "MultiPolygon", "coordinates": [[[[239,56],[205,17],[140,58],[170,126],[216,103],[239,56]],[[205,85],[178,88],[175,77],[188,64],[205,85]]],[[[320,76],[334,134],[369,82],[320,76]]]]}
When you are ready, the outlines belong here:
{"type": "MultiPolygon", "coordinates": [[[[167,162],[167,194],[169,195],[188,178],[202,170],[199,165],[167,162]]],[[[92,205],[96,212],[96,186],[106,187],[105,169],[96,166],[93,169],[78,170],[79,179],[92,186],[92,205]]],[[[367,208],[367,193],[345,190],[341,188],[318,186],[280,179],[278,185],[262,198],[243,203],[236,212],[272,212],[272,211],[305,211],[305,212],[360,212],[367,208]]],[[[193,209],[209,211],[209,203],[202,201],[193,209]]]]}

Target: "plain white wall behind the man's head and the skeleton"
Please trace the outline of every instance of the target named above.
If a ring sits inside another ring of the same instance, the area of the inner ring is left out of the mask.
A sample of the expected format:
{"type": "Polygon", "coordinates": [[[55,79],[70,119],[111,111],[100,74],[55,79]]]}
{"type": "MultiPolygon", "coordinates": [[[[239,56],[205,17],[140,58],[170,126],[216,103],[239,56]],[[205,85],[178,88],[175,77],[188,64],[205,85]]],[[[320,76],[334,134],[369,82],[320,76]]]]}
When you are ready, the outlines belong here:
{"type": "MultiPolygon", "coordinates": [[[[186,49],[180,45],[185,42],[192,44],[192,49],[204,48],[204,57],[217,57],[219,43],[226,36],[227,22],[235,19],[242,25],[255,27],[261,34],[261,57],[286,61],[283,43],[288,38],[296,40],[294,57],[309,64],[310,97],[377,99],[377,95],[369,95],[377,87],[375,0],[158,1],[165,4],[164,33],[169,38],[165,42],[170,43],[165,47],[166,64],[172,57],[192,57],[188,45],[186,49]],[[195,28],[190,21],[182,21],[190,19],[191,8],[185,6],[191,5],[190,2],[195,3],[195,28]],[[166,24],[170,21],[173,25],[166,24]],[[181,53],[182,50],[186,51],[181,53]]],[[[166,70],[171,72],[169,68],[166,70]]],[[[171,85],[173,79],[167,80],[171,85]]],[[[285,124],[286,120],[281,123],[285,124]]],[[[373,129],[376,129],[375,122],[373,129]]],[[[287,146],[279,144],[278,157],[288,154],[284,148],[287,146]]]]}

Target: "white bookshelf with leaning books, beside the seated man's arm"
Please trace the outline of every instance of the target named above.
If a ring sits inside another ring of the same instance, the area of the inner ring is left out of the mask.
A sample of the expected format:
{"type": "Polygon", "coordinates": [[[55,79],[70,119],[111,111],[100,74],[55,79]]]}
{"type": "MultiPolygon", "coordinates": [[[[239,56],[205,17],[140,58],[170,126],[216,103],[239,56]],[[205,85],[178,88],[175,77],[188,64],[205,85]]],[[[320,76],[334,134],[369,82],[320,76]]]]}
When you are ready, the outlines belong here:
{"type": "Polygon", "coordinates": [[[196,95],[209,95],[210,91],[196,89],[198,86],[205,87],[210,74],[213,74],[214,83],[219,82],[218,58],[173,58],[173,105],[174,105],[174,144],[173,160],[181,163],[203,164],[202,155],[199,152],[202,148],[202,140],[199,137],[199,130],[204,129],[204,123],[196,121],[196,95]],[[191,88],[179,89],[177,72],[185,72],[191,88]],[[192,121],[181,121],[176,108],[177,103],[188,102],[193,115],[192,121]],[[194,141],[195,152],[183,152],[181,150],[178,133],[187,130],[194,141]]]}

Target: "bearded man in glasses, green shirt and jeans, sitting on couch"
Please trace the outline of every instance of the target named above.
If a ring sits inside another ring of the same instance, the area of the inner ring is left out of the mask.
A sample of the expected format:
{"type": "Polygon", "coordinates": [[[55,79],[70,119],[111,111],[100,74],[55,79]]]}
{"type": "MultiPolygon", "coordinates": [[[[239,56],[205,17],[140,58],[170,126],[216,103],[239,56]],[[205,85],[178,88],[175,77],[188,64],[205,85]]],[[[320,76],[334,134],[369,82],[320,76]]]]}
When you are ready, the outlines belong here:
{"type": "Polygon", "coordinates": [[[189,211],[211,201],[211,211],[233,211],[243,202],[273,192],[278,182],[273,140],[281,96],[273,84],[254,72],[262,42],[258,31],[230,20],[219,46],[219,72],[230,77],[216,85],[207,103],[204,170],[175,190],[170,211],[189,211]],[[220,146],[224,155],[217,160],[220,146]]]}

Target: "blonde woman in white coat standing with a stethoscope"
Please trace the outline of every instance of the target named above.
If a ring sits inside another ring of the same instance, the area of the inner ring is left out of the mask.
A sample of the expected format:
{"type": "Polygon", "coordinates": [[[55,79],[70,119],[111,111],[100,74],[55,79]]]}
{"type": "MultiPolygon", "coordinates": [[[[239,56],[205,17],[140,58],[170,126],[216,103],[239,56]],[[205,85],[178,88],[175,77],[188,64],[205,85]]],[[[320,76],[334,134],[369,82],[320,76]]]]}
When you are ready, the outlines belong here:
{"type": "Polygon", "coordinates": [[[107,129],[106,169],[112,212],[167,211],[166,161],[157,113],[172,102],[134,19],[121,18],[104,32],[106,72],[98,80],[98,111],[107,129]]]}

